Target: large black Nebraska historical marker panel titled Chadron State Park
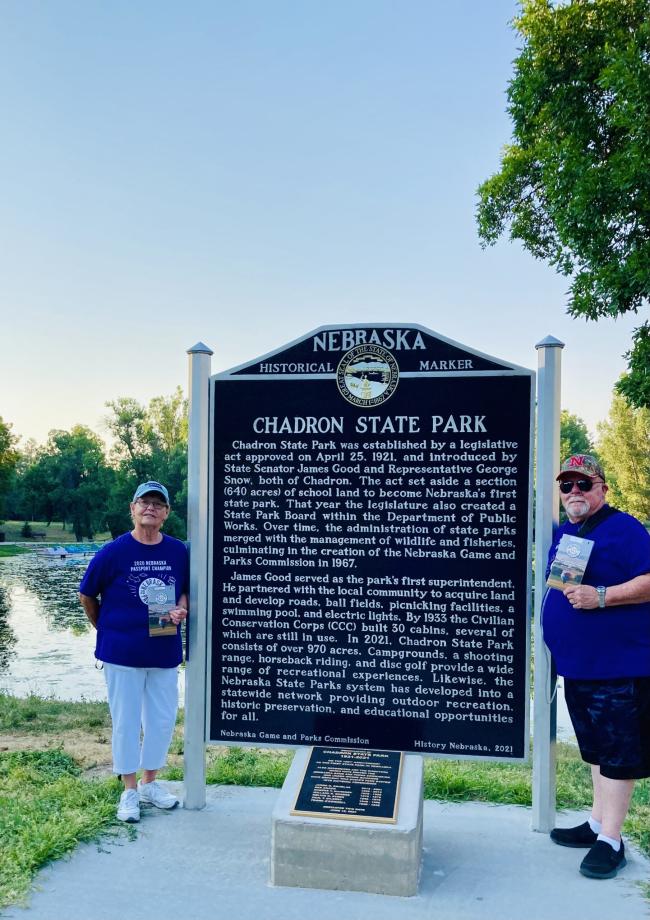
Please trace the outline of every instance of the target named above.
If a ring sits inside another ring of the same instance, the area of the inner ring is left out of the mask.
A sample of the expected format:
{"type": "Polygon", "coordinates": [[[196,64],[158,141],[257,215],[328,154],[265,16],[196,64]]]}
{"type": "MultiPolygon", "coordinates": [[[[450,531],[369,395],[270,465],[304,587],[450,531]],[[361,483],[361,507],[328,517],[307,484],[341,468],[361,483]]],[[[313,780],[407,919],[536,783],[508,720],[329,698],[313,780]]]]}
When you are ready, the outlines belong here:
{"type": "Polygon", "coordinates": [[[532,372],[357,326],[213,386],[209,738],[525,758],[532,372]]]}

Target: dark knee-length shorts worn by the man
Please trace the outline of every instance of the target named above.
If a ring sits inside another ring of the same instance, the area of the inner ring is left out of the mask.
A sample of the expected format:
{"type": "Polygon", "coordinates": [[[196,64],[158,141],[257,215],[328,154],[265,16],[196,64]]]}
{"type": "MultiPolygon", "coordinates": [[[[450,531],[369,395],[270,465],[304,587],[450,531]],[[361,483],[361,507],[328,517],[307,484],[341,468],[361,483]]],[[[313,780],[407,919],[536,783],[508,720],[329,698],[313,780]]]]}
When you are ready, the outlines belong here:
{"type": "Polygon", "coordinates": [[[582,759],[610,779],[650,776],[650,677],[564,678],[582,759]]]}

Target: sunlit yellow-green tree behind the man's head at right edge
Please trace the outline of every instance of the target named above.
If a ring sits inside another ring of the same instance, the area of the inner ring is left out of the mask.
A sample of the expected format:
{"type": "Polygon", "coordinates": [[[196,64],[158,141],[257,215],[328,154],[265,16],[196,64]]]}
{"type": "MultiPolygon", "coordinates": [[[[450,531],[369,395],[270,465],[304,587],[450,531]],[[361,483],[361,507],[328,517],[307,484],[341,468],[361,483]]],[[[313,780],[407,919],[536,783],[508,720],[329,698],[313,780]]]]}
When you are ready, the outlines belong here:
{"type": "Polygon", "coordinates": [[[650,409],[614,392],[609,418],[598,425],[598,453],[617,508],[650,521],[650,409]]]}

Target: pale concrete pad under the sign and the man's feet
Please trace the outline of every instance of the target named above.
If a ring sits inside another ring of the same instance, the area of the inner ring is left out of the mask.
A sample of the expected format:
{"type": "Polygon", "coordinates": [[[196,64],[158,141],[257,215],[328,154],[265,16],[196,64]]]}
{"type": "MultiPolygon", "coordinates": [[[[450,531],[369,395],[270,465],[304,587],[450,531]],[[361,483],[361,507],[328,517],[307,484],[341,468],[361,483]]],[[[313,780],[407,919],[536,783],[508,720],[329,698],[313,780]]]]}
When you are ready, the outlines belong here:
{"type": "MultiPolygon", "coordinates": [[[[167,784],[177,793],[181,785],[167,784]]],[[[36,879],[6,920],[648,920],[650,863],[626,846],[616,879],[583,878],[586,850],[530,830],[530,810],[424,803],[414,898],[269,885],[276,789],[208,787],[200,812],[143,808],[137,838],[79,847],[36,879]]],[[[582,815],[564,814],[569,826],[582,815]]]]}

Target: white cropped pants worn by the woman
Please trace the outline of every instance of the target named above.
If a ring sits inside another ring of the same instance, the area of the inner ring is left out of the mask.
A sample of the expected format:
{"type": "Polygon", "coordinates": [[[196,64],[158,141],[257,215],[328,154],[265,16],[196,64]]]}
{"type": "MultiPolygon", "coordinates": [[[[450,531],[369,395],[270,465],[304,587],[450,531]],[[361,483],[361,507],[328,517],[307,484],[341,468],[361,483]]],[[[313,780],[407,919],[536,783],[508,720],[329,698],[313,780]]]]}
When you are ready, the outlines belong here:
{"type": "Polygon", "coordinates": [[[113,773],[164,767],[176,724],[178,669],[104,662],[104,675],[113,721],[113,773]]]}

